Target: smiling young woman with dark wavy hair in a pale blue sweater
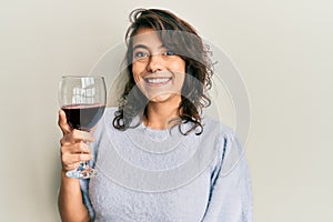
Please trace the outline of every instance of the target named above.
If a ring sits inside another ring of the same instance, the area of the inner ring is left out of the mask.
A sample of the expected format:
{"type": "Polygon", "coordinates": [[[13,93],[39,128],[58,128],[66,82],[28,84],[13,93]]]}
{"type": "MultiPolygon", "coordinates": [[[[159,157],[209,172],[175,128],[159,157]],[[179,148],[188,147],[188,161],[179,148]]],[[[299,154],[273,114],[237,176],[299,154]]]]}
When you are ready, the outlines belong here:
{"type": "Polygon", "coordinates": [[[252,221],[243,149],[229,128],[202,117],[212,77],[202,39],[165,10],[130,18],[119,107],[91,133],[71,129],[59,112],[62,220],[252,221]],[[85,160],[95,178],[65,176],[85,160]]]}

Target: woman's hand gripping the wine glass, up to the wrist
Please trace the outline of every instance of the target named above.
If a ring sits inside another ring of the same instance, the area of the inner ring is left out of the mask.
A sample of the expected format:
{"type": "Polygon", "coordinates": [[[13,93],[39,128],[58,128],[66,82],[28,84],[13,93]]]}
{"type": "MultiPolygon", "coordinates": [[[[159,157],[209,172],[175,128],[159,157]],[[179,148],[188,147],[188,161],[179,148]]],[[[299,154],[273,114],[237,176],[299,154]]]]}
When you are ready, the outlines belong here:
{"type": "Polygon", "coordinates": [[[58,124],[63,134],[60,140],[62,170],[67,172],[77,169],[81,161],[91,159],[89,142],[94,138],[91,132],[72,129],[62,110],[59,111],[58,124]]]}

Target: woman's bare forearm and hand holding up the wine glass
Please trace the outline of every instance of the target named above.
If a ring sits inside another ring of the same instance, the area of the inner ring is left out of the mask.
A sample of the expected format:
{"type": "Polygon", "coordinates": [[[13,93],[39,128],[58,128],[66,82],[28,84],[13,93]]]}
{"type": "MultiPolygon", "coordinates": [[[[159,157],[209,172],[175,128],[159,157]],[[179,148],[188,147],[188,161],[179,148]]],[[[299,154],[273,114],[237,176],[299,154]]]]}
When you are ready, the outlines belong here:
{"type": "Polygon", "coordinates": [[[80,181],[68,178],[65,172],[77,169],[80,161],[91,159],[88,142],[92,142],[94,138],[91,132],[72,129],[67,123],[65,113],[62,110],[59,111],[58,124],[63,133],[60,140],[62,171],[58,195],[61,221],[89,221],[88,210],[82,202],[80,181]]]}

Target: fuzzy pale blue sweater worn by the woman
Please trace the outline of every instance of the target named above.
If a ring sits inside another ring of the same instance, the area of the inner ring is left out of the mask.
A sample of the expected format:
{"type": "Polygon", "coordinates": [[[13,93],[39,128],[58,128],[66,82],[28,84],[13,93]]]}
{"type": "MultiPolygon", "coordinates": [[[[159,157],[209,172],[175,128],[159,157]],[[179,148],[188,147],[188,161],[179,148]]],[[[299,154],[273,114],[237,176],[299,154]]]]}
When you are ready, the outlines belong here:
{"type": "Polygon", "coordinates": [[[114,111],[105,110],[91,143],[99,173],[80,181],[93,221],[252,221],[244,150],[229,128],[204,118],[200,135],[143,124],[119,131],[114,111]]]}

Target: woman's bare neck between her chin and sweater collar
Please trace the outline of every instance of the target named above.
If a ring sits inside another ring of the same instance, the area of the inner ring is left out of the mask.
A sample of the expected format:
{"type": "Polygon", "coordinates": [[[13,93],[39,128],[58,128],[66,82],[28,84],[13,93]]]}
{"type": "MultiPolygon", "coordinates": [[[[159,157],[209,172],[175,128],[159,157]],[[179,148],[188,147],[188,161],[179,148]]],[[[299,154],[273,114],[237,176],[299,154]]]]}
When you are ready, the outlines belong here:
{"type": "Polygon", "coordinates": [[[181,98],[173,98],[169,102],[149,102],[144,125],[152,129],[168,129],[174,124],[179,117],[179,104],[181,98]]]}

